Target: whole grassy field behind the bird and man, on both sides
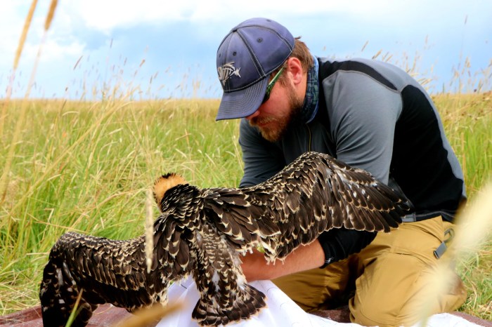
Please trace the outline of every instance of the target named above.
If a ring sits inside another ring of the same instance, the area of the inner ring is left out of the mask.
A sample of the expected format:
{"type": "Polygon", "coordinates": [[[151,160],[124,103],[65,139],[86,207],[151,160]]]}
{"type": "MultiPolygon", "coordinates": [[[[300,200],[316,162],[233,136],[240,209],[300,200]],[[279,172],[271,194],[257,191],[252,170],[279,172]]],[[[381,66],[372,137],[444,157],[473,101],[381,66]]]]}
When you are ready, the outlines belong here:
{"type": "MultiPolygon", "coordinates": [[[[491,178],[492,95],[434,96],[470,199],[491,178]]],[[[218,100],[0,102],[0,314],[37,305],[48,251],[73,230],[115,239],[143,233],[158,175],[233,187],[242,174],[238,121],[218,100]]],[[[157,208],[154,208],[157,215],[157,208]]],[[[460,310],[492,320],[492,234],[458,262],[460,310]]]]}

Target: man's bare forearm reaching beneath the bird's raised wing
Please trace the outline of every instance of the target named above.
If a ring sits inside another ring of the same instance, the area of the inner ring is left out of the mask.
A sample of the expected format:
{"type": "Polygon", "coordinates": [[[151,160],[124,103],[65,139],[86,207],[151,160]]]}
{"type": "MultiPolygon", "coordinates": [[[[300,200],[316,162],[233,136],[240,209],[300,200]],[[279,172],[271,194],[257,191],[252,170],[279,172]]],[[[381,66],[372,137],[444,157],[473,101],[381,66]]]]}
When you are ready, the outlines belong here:
{"type": "Polygon", "coordinates": [[[276,262],[268,264],[264,254],[256,249],[253,253],[241,257],[241,260],[242,272],[247,281],[256,281],[276,279],[280,276],[294,274],[294,272],[321,267],[325,263],[325,253],[316,239],[306,246],[297,248],[290,255],[287,255],[283,262],[276,260],[276,262]]]}

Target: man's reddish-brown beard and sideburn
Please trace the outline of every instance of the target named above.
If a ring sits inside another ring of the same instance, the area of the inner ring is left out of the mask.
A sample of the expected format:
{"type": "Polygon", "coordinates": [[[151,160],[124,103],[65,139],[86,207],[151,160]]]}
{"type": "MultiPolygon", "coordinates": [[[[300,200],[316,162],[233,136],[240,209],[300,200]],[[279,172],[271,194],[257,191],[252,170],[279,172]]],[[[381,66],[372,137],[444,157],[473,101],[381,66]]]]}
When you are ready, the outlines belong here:
{"type": "Polygon", "coordinates": [[[250,120],[250,125],[258,128],[261,136],[269,142],[277,142],[278,140],[281,140],[285,133],[287,133],[287,131],[289,131],[292,126],[299,124],[302,107],[304,105],[304,99],[297,98],[293,87],[291,87],[291,90],[288,94],[290,110],[285,116],[257,116],[250,120]],[[261,125],[267,123],[275,124],[273,124],[273,126],[271,127],[261,127],[261,125]]]}

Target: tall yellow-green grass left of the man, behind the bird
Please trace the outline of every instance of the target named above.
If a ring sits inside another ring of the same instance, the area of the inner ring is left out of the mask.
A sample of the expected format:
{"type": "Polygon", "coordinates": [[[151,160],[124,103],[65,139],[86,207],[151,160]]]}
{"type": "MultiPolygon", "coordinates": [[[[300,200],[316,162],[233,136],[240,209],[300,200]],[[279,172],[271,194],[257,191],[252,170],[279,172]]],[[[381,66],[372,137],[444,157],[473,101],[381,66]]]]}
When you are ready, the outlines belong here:
{"type": "MultiPolygon", "coordinates": [[[[19,105],[9,107],[6,145],[19,105]]],[[[46,255],[67,230],[142,234],[145,191],[158,175],[176,171],[202,187],[238,185],[237,124],[213,124],[217,105],[30,102],[30,123],[0,194],[0,314],[37,302],[46,255]]],[[[0,150],[1,167],[7,151],[0,150]]]]}

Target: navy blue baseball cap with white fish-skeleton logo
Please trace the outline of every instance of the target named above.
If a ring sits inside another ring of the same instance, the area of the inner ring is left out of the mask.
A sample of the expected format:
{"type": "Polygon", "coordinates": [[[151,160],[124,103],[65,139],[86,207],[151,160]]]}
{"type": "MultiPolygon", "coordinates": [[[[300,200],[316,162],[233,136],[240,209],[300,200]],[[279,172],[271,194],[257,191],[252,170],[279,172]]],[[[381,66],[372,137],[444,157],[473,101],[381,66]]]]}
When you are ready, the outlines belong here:
{"type": "Polygon", "coordinates": [[[224,94],[216,120],[250,116],[266,93],[270,74],[289,58],[294,37],[278,22],[251,18],[231,29],[217,50],[224,94]]]}

